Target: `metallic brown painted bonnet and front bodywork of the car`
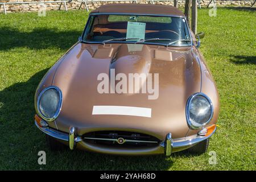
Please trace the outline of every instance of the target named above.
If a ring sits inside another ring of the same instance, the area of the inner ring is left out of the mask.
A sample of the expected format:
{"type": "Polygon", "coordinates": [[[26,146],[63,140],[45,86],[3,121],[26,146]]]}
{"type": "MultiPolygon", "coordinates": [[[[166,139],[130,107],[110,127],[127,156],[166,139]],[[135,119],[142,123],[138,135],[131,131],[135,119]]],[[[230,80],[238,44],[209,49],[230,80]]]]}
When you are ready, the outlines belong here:
{"type": "MultiPolygon", "coordinates": [[[[101,11],[108,12],[110,9],[100,8],[92,12],[101,11]]],[[[179,15],[176,11],[173,12],[179,15]]],[[[63,93],[63,106],[56,124],[59,130],[67,133],[72,126],[76,128],[78,135],[100,130],[123,130],[149,134],[160,140],[164,140],[167,133],[172,133],[174,139],[188,137],[199,131],[189,129],[185,117],[186,102],[189,96],[197,92],[207,94],[213,102],[213,118],[207,126],[216,123],[218,118],[219,98],[216,84],[203,55],[195,46],[76,43],[49,69],[36,90],[35,98],[44,88],[51,85],[58,86],[63,93]],[[109,75],[110,69],[115,69],[115,75],[125,73],[127,77],[129,73],[158,73],[158,99],[148,100],[147,93],[98,93],[97,85],[100,81],[97,80],[97,76],[100,73],[109,75]],[[94,105],[147,107],[152,109],[152,116],[146,118],[128,115],[92,115],[94,105]]],[[[54,122],[49,125],[56,128],[54,122]]],[[[86,145],[88,144],[83,142],[78,147],[83,148],[86,145]]],[[[87,146],[87,149],[92,151],[111,150],[95,148],[97,146],[87,146]]],[[[159,147],[152,151],[146,149],[137,152],[142,154],[163,152],[159,147]]]]}

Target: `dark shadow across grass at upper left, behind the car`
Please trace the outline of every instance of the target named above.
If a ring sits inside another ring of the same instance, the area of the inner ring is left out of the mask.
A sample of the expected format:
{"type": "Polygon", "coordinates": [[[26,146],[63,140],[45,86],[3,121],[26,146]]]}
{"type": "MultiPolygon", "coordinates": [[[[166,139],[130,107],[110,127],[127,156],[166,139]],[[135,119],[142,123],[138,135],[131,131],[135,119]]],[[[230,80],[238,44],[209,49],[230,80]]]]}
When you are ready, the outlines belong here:
{"type": "Polygon", "coordinates": [[[15,47],[68,49],[77,42],[81,34],[82,32],[73,30],[57,31],[57,29],[35,28],[31,32],[22,32],[10,27],[0,27],[0,51],[15,47]]]}

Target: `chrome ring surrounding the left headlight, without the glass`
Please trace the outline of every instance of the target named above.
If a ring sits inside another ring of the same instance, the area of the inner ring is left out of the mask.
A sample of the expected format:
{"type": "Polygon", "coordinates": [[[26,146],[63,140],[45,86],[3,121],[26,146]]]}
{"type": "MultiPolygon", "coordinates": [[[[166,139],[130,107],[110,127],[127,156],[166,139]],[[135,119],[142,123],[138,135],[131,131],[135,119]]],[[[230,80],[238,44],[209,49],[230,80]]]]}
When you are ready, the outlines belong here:
{"type": "Polygon", "coordinates": [[[61,110],[61,106],[62,106],[62,93],[61,90],[57,87],[57,86],[48,86],[47,88],[43,89],[42,92],[39,94],[38,99],[36,101],[36,113],[38,113],[38,115],[43,118],[45,121],[51,122],[54,121],[58,115],[60,114],[60,110],[61,110]],[[40,109],[39,109],[39,104],[40,104],[40,99],[43,96],[43,94],[49,90],[49,89],[55,89],[57,91],[57,93],[59,94],[59,102],[57,104],[57,109],[55,111],[55,114],[51,117],[51,118],[47,118],[45,117],[40,109]]]}

